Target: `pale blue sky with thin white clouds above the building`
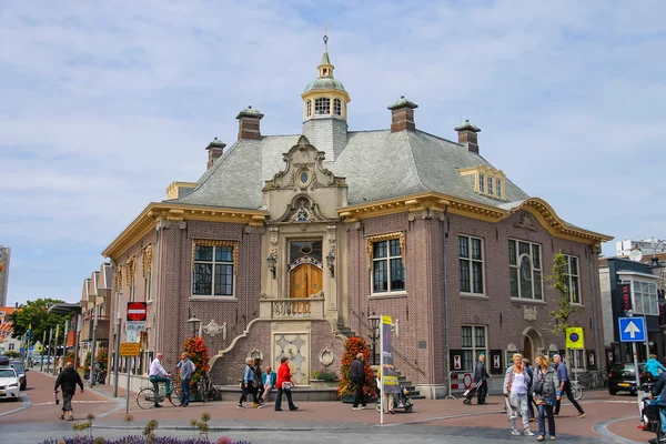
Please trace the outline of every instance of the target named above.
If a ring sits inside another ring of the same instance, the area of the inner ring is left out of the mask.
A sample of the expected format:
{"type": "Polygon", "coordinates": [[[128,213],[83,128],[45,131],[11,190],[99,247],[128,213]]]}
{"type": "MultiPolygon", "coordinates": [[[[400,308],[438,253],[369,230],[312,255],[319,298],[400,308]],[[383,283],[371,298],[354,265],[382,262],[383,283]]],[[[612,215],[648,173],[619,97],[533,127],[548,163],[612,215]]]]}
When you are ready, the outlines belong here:
{"type": "Polygon", "coordinates": [[[387,129],[405,95],[421,130],[480,127],[481,154],[566,221],[666,238],[664,17],[647,0],[0,2],[8,303],[78,301],[245,107],[263,134],[300,133],[324,22],[350,130],[387,129]]]}

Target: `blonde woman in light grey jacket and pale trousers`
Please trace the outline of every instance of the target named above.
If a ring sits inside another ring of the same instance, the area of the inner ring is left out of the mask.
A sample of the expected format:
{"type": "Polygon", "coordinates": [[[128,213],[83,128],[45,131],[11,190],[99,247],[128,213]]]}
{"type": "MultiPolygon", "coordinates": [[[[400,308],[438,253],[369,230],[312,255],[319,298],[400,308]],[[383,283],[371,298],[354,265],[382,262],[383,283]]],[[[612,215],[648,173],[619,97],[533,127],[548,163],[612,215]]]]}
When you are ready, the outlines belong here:
{"type": "Polygon", "coordinates": [[[529,431],[529,413],[527,412],[527,386],[529,385],[529,375],[525,371],[523,364],[523,355],[516,353],[513,355],[514,364],[506,369],[504,375],[504,396],[508,400],[507,412],[508,421],[512,425],[512,435],[519,435],[517,428],[517,417],[523,420],[523,434],[525,436],[534,436],[529,431]]]}

